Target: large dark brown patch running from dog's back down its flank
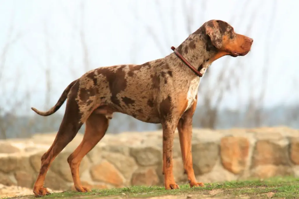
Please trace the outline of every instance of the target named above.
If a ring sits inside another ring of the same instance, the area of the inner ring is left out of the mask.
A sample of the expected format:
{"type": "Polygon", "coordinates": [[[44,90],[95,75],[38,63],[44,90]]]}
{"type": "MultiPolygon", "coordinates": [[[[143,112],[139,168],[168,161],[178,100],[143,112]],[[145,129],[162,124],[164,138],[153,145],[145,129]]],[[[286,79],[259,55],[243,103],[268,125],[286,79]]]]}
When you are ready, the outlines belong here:
{"type": "Polygon", "coordinates": [[[108,67],[98,69],[100,73],[106,76],[106,80],[109,82],[112,103],[118,106],[120,106],[120,101],[116,95],[120,91],[125,90],[127,86],[127,81],[125,78],[126,73],[125,71],[123,71],[124,67],[126,67],[126,65],[118,67],[118,69],[115,72],[111,71],[112,68],[108,67]]]}

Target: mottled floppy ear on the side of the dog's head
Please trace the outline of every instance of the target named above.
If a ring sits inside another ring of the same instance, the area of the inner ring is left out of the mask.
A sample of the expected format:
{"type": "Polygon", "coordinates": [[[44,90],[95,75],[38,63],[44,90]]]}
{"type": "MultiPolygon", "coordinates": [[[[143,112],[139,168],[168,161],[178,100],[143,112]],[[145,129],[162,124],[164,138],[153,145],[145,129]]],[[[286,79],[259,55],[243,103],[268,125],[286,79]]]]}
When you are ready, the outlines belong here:
{"type": "Polygon", "coordinates": [[[212,44],[216,48],[222,47],[222,31],[217,21],[209,21],[205,25],[206,34],[211,38],[212,44]]]}

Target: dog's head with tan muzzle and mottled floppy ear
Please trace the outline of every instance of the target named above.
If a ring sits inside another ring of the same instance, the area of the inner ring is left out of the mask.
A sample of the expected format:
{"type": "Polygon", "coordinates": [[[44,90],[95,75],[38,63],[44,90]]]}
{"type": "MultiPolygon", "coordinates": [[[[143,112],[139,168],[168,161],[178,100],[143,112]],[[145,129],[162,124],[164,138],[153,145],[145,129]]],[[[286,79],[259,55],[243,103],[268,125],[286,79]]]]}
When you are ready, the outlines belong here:
{"type": "Polygon", "coordinates": [[[244,56],[250,51],[253,39],[235,33],[234,28],[227,22],[210,20],[203,26],[208,39],[222,56],[244,56]]]}

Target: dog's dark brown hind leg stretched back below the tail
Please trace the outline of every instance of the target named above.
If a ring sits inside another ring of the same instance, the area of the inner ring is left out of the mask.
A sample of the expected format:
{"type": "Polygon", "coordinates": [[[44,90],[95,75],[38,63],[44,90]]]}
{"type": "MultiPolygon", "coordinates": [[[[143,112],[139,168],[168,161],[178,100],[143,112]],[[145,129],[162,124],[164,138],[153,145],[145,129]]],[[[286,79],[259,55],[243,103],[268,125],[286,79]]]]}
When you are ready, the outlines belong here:
{"type": "Polygon", "coordinates": [[[65,148],[65,146],[73,140],[77,132],[84,123],[82,113],[76,101],[79,83],[77,82],[71,89],[68,96],[68,101],[65,108],[65,114],[57,132],[56,138],[44,155],[41,158],[41,167],[37,176],[36,182],[33,186],[33,193],[36,197],[50,194],[44,187],[46,173],[55,159],[55,157],[65,148]]]}

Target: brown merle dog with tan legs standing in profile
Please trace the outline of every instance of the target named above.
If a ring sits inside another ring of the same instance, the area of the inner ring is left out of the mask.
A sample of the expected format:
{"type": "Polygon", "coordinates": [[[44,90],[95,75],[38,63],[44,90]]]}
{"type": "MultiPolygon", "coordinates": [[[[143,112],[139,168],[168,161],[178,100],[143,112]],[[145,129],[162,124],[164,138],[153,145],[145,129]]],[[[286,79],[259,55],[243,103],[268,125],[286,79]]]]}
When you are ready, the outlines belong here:
{"type": "MultiPolygon", "coordinates": [[[[225,21],[210,20],[190,34],[176,48],[198,72],[205,74],[216,59],[225,55],[244,56],[251,50],[253,39],[234,32],[225,21]]],[[[79,178],[82,158],[103,138],[114,112],[155,124],[163,129],[163,174],[165,189],[179,189],[173,176],[173,139],[178,128],[184,171],[190,187],[204,186],[197,182],[192,163],[192,117],[196,109],[200,77],[186,66],[177,53],[141,65],[117,65],[90,70],[71,82],[61,97],[46,112],[56,112],[64,101],[66,109],[56,138],[41,158],[41,167],[33,186],[36,197],[50,194],[43,186],[46,173],[54,158],[73,140],[85,123],[83,140],[67,161],[74,187],[89,192],[79,178]]]]}

